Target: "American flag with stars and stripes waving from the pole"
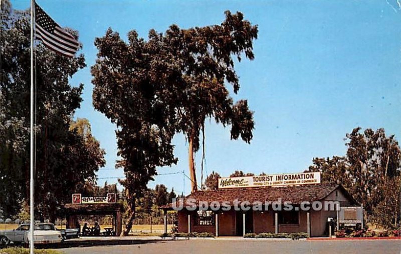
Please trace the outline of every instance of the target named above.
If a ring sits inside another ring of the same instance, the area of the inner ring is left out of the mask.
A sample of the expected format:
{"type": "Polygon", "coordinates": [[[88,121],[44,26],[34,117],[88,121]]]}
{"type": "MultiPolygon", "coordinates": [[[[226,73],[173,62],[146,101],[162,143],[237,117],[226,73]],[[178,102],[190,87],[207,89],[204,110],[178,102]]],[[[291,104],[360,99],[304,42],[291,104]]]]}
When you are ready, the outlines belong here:
{"type": "Polygon", "coordinates": [[[35,2],[35,38],[57,53],[74,57],[79,42],[35,2]]]}

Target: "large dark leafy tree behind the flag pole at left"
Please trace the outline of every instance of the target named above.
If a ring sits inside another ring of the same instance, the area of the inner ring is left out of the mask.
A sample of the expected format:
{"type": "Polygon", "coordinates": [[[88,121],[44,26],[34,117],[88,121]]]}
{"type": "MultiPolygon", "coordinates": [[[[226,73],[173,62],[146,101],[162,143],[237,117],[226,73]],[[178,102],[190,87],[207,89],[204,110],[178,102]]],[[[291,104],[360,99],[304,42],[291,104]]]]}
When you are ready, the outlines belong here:
{"type": "MultiPolygon", "coordinates": [[[[29,201],[30,16],[29,11],[12,9],[9,0],[1,4],[0,192],[8,195],[0,195],[0,203],[15,214],[22,200],[29,201]]],[[[68,30],[78,39],[76,31],[68,30]]],[[[104,159],[99,146],[87,146],[85,138],[70,130],[83,84],[73,86],[69,79],[85,67],[84,56],[67,58],[42,43],[34,53],[35,208],[41,219],[54,220],[76,184],[95,178],[104,159]]]]}

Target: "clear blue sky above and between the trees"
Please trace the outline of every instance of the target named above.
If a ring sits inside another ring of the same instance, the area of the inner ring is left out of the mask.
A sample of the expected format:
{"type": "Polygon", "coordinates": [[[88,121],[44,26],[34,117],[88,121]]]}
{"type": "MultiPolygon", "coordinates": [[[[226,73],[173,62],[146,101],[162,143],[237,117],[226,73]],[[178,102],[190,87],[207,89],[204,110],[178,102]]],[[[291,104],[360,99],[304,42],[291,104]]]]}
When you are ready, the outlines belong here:
{"type": "MultiPolygon", "coordinates": [[[[61,26],[80,33],[88,67],[72,78],[85,84],[76,117],[86,117],[106,150],[99,184],[123,176],[117,159],[116,127],[92,106],[90,66],[96,59],[95,37],[108,27],[123,38],[135,29],[142,37],[172,23],[182,28],[221,23],[224,11],[241,11],[259,25],[255,60],[236,69],[241,89],[255,111],[251,144],[230,140],[230,129],[208,121],[204,173],[228,176],[246,172],[300,172],[313,157],[343,155],[345,133],[354,127],[383,127],[401,136],[401,6],[396,0],[37,0],[61,26]]],[[[16,9],[29,0],[12,0],[16,9]]],[[[162,167],[149,183],[188,193],[187,143],[174,138],[177,165],[162,167]],[[166,174],[167,173],[167,174],[166,174]]],[[[200,153],[196,157],[200,178],[200,153]]]]}

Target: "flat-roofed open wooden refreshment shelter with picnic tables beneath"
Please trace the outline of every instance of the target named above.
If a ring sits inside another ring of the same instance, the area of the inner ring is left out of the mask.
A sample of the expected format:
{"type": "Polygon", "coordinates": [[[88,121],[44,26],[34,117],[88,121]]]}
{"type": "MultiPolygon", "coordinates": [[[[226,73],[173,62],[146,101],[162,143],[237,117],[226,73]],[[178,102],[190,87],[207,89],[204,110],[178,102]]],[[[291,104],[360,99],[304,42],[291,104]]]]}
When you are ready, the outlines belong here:
{"type": "Polygon", "coordinates": [[[68,228],[77,228],[79,215],[112,215],[113,234],[120,235],[122,232],[122,203],[67,203],[64,206],[67,214],[68,228]]]}

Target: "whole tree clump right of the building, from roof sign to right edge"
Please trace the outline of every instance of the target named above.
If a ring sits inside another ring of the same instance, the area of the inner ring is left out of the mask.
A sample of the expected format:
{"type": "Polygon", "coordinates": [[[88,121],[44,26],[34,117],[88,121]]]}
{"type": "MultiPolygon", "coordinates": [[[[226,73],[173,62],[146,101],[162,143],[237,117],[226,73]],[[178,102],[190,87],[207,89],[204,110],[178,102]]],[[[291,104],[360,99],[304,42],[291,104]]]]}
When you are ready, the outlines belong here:
{"type": "Polygon", "coordinates": [[[384,129],[354,128],[346,134],[346,156],[313,158],[306,171],[322,172],[323,183],[342,184],[376,225],[399,224],[399,173],[401,149],[384,129]]]}

